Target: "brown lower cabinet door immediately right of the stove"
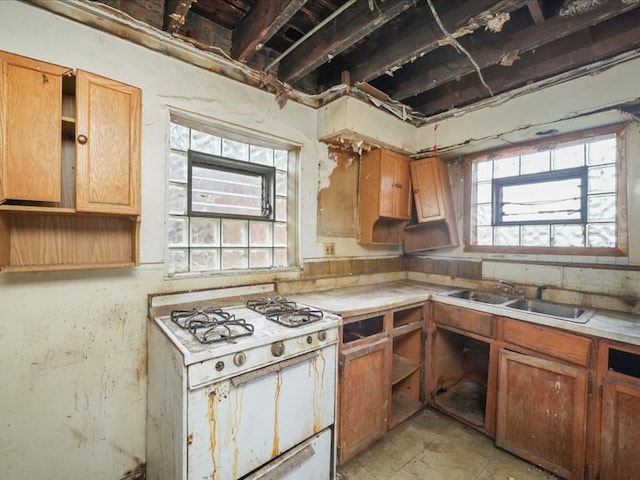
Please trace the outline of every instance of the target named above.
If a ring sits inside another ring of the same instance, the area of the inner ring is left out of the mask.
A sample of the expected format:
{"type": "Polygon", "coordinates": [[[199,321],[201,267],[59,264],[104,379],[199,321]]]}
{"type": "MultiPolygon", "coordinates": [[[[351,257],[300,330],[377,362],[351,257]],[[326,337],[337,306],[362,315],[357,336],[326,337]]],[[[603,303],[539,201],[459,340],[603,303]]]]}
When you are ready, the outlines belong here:
{"type": "Polygon", "coordinates": [[[340,354],[338,462],[347,461],[387,431],[389,339],[340,354]]]}

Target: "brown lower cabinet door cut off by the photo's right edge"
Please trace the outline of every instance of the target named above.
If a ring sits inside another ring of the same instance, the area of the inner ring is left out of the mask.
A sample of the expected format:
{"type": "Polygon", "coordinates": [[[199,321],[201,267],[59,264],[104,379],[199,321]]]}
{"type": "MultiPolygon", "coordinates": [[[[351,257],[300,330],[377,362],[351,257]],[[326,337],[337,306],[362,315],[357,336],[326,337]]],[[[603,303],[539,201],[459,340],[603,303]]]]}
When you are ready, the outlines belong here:
{"type": "Polygon", "coordinates": [[[604,379],[600,478],[632,480],[640,472],[640,386],[604,379]]]}

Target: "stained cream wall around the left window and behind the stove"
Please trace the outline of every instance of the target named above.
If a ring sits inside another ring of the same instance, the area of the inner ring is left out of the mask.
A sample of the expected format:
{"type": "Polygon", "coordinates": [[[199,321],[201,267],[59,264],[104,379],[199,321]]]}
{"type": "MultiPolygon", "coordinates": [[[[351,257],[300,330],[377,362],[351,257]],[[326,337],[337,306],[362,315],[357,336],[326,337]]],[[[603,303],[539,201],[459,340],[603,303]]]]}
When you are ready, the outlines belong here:
{"type": "Polygon", "coordinates": [[[25,3],[0,2],[0,50],[143,91],[142,265],[0,274],[0,478],[119,479],[145,460],[147,295],[270,280],[164,278],[170,108],[300,145],[305,258],[322,252],[317,170],[327,149],[309,107],[280,109],[273,95],[25,3]]]}

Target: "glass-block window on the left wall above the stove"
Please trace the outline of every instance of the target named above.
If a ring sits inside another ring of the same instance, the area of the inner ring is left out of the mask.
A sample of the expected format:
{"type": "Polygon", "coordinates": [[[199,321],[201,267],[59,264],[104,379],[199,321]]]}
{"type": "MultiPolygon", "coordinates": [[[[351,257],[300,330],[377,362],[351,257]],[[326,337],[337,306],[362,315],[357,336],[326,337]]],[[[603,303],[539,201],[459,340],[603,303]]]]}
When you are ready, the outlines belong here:
{"type": "Polygon", "coordinates": [[[173,117],[169,143],[168,274],[295,263],[294,148],[173,117]]]}

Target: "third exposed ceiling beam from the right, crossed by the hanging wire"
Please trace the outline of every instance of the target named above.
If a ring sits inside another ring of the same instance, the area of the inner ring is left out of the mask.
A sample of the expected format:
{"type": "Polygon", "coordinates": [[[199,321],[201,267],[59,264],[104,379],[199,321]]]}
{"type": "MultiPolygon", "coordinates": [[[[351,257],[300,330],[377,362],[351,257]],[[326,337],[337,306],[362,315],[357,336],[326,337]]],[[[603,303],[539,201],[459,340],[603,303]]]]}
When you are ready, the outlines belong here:
{"type": "MultiPolygon", "coordinates": [[[[494,2],[469,0],[461,6],[448,10],[443,9],[441,16],[445,27],[452,33],[469,24],[471,18],[485,18],[500,12],[511,12],[526,4],[526,0],[502,0],[494,2]]],[[[443,4],[436,3],[436,9],[443,4]]],[[[372,41],[360,49],[350,62],[351,78],[354,82],[368,82],[385,72],[392,72],[398,67],[414,61],[416,58],[429,53],[440,46],[442,32],[436,25],[431,12],[427,8],[421,8],[424,15],[413,15],[406,23],[398,28],[398,32],[389,32],[385,35],[393,41],[372,41]]],[[[478,23],[470,26],[468,33],[473,28],[481,28],[484,25],[478,23]]],[[[460,32],[462,35],[463,32],[460,32]]]]}

